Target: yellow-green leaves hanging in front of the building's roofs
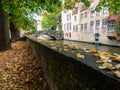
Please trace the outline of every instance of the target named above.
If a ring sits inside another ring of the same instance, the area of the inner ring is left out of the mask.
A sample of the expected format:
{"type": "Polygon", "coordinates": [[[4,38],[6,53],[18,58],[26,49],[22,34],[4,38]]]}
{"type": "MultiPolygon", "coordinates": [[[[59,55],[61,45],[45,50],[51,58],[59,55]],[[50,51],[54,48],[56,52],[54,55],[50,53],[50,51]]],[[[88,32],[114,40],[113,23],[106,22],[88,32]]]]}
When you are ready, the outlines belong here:
{"type": "MultiPolygon", "coordinates": [[[[82,2],[87,7],[90,6],[91,0],[66,0],[64,3],[64,9],[72,9],[76,3],[82,2]]],[[[102,7],[108,7],[111,14],[118,14],[120,12],[120,0],[99,0],[99,4],[96,7],[96,11],[100,11],[102,7]]]]}

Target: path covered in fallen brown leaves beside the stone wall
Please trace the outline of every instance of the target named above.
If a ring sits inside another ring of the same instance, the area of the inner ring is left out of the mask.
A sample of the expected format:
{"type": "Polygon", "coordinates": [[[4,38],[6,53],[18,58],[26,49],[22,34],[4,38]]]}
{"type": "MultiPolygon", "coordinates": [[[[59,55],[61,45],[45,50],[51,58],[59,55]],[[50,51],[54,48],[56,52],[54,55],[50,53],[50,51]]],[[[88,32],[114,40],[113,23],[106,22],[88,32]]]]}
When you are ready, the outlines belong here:
{"type": "Polygon", "coordinates": [[[41,66],[26,41],[0,52],[0,90],[49,90],[41,66]]]}

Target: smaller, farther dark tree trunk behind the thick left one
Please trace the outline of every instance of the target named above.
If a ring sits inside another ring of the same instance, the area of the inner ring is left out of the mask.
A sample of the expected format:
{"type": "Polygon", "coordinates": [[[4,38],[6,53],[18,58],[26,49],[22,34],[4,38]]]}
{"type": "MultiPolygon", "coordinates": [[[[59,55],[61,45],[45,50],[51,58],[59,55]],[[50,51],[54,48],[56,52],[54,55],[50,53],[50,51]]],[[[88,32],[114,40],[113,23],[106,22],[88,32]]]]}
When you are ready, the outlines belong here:
{"type": "Polygon", "coordinates": [[[15,27],[14,23],[10,21],[10,32],[12,41],[16,41],[20,38],[20,31],[15,27]]]}

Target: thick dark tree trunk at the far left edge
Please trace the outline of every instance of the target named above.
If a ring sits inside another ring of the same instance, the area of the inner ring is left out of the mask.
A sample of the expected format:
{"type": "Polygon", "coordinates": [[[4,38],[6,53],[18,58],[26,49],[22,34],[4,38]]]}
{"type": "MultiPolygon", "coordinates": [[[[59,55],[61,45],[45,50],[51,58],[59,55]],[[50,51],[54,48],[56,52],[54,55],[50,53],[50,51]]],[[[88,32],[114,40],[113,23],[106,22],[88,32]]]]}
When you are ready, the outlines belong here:
{"type": "Polygon", "coordinates": [[[7,14],[2,8],[0,3],[0,51],[4,51],[11,48],[9,30],[8,30],[8,19],[7,14]]]}

